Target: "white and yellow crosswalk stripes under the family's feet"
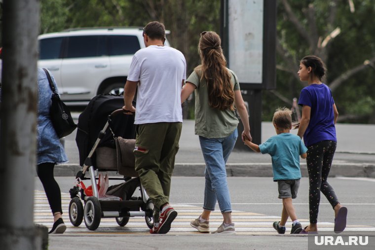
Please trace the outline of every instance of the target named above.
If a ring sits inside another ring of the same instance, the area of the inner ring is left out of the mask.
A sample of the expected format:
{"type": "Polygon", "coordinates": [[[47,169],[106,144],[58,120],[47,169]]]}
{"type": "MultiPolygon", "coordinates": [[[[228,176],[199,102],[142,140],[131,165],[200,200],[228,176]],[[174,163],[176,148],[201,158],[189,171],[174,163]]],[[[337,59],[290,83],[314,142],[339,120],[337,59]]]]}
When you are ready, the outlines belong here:
{"type": "MultiPolygon", "coordinates": [[[[124,227],[118,226],[114,218],[101,218],[100,225],[95,231],[86,228],[84,220],[78,227],[73,226],[69,220],[69,203],[71,201],[70,194],[61,193],[63,220],[66,223],[67,230],[65,234],[72,235],[126,235],[126,234],[149,234],[149,228],[146,225],[144,217],[131,217],[124,227]]],[[[198,233],[192,228],[189,222],[197,218],[202,212],[201,207],[188,204],[171,204],[178,212],[177,218],[173,221],[169,234],[191,234],[198,233]]],[[[233,211],[232,220],[235,223],[237,234],[245,235],[277,235],[272,228],[273,221],[280,219],[280,216],[257,214],[243,211],[233,211]]],[[[53,219],[51,210],[45,193],[35,190],[34,200],[34,222],[51,228],[53,219]]],[[[210,216],[211,230],[216,229],[223,222],[223,217],[219,212],[213,212],[210,216]]],[[[308,224],[308,219],[300,219],[303,225],[308,224]]],[[[291,222],[287,222],[287,230],[291,228],[291,222]]],[[[320,231],[333,231],[334,223],[319,221],[318,227],[320,231]]],[[[347,225],[345,231],[375,231],[375,227],[361,225],[347,225]]],[[[198,233],[199,234],[199,233],[198,233]]],[[[287,232],[288,234],[288,232],[287,232]]]]}

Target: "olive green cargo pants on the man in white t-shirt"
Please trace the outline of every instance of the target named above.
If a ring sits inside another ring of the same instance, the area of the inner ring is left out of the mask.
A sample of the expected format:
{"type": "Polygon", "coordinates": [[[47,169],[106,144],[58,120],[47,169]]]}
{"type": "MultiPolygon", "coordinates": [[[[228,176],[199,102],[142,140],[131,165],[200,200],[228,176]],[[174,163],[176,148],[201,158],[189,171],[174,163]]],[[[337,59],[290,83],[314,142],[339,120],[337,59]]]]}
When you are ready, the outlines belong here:
{"type": "Polygon", "coordinates": [[[153,202],[155,214],[162,205],[169,203],[171,177],[181,130],[181,122],[137,125],[135,170],[153,202]]]}

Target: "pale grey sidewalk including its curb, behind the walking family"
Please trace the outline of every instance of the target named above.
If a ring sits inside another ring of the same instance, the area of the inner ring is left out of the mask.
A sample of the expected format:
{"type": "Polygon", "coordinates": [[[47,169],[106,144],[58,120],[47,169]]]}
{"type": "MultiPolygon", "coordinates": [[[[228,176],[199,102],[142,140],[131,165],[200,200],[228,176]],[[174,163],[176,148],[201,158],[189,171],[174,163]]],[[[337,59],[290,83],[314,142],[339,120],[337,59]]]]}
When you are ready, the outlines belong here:
{"type": "MultiPolygon", "coordinates": [[[[338,147],[330,172],[331,177],[375,178],[375,125],[338,124],[338,147]]],[[[291,133],[297,134],[297,130],[291,133]]],[[[241,132],[239,132],[241,134],[241,132]]],[[[271,122],[262,123],[262,142],[275,135],[271,122]]],[[[240,140],[240,139],[239,139],[240,140]]],[[[57,165],[56,176],[75,176],[80,170],[75,133],[65,142],[70,164],[57,165]]],[[[272,177],[271,157],[255,153],[250,148],[234,150],[227,161],[227,175],[233,177],[272,177]]],[[[180,149],[176,155],[173,176],[204,176],[204,159],[198,136],[194,135],[194,120],[184,120],[180,149]]],[[[307,177],[306,161],[301,159],[301,173],[307,177]]]]}

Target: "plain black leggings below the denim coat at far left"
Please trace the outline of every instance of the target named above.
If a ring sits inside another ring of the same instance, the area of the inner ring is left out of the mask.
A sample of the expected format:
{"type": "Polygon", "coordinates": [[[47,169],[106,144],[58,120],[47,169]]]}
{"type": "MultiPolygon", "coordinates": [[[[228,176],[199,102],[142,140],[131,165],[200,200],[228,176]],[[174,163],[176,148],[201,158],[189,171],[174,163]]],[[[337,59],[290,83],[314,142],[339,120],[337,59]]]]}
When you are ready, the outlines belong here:
{"type": "Polygon", "coordinates": [[[41,163],[37,165],[37,174],[43,184],[45,195],[47,196],[49,206],[52,210],[52,214],[61,213],[61,192],[59,184],[53,177],[54,163],[41,163]]]}

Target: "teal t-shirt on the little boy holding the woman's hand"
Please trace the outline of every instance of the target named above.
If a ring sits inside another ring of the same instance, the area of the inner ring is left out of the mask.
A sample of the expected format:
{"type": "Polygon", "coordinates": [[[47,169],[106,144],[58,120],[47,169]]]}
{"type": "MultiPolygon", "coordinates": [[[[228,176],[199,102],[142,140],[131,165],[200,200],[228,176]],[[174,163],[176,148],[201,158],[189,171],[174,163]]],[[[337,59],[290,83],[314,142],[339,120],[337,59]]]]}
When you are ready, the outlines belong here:
{"type": "Polygon", "coordinates": [[[272,158],[274,181],[301,178],[300,155],[307,152],[307,147],[299,136],[282,133],[260,144],[259,149],[272,158]]]}

